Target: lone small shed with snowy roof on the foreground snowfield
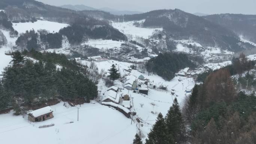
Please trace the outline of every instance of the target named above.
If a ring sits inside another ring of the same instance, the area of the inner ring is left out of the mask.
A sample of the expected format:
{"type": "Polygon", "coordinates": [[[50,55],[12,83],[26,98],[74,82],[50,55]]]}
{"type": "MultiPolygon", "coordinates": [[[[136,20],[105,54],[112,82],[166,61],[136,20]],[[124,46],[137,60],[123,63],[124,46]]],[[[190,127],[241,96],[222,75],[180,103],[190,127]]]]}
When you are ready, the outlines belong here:
{"type": "Polygon", "coordinates": [[[43,107],[38,110],[31,111],[28,114],[28,120],[31,122],[42,122],[53,118],[52,108],[50,106],[43,107]]]}

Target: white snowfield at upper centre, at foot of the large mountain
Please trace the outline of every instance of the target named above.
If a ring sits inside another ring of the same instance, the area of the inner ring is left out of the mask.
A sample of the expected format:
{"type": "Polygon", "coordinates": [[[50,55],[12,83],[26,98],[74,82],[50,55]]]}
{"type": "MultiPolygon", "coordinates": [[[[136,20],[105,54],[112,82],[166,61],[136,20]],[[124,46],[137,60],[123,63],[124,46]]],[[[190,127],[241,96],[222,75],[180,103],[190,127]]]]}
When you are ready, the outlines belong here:
{"type": "MultiPolygon", "coordinates": [[[[143,20],[144,21],[144,20],[143,20]]],[[[152,35],[152,33],[155,30],[162,31],[162,28],[141,28],[141,27],[135,27],[134,22],[143,22],[143,21],[129,21],[129,22],[112,22],[112,26],[119,31],[121,31],[124,34],[130,34],[132,35],[133,39],[138,37],[143,37],[144,39],[149,39],[149,36],[152,35]]]]}

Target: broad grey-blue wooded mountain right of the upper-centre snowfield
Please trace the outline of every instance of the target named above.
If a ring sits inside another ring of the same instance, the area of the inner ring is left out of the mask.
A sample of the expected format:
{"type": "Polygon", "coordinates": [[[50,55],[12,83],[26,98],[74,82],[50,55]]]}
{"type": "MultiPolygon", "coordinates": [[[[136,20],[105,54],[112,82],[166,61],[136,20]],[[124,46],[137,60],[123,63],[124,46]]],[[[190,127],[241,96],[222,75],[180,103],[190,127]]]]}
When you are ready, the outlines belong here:
{"type": "Polygon", "coordinates": [[[124,15],[119,20],[142,19],[145,19],[143,27],[163,27],[168,39],[192,39],[203,46],[217,46],[230,51],[246,48],[240,45],[240,38],[232,30],[179,9],[124,15]]]}

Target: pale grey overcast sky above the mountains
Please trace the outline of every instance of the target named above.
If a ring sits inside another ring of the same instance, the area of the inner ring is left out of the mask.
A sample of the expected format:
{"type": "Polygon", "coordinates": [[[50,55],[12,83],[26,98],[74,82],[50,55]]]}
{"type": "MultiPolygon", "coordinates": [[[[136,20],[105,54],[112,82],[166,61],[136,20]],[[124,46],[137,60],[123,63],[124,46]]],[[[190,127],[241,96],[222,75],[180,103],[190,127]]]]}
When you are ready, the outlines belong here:
{"type": "Polygon", "coordinates": [[[94,8],[109,7],[118,10],[147,12],[155,9],[181,9],[195,13],[243,13],[256,14],[256,0],[37,0],[61,6],[84,4],[94,8]]]}

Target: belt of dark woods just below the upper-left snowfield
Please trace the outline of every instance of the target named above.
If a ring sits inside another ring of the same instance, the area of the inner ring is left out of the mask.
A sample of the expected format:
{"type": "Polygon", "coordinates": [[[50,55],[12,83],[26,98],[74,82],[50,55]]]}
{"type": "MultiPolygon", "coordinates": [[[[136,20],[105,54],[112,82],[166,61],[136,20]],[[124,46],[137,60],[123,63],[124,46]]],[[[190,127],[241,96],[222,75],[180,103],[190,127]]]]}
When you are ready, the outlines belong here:
{"type": "Polygon", "coordinates": [[[109,25],[103,25],[94,28],[88,28],[85,25],[73,24],[62,28],[57,33],[49,33],[46,30],[26,31],[16,40],[16,45],[27,50],[61,48],[63,36],[67,37],[71,45],[79,45],[88,39],[110,39],[110,40],[126,40],[127,37],[109,25]]]}

